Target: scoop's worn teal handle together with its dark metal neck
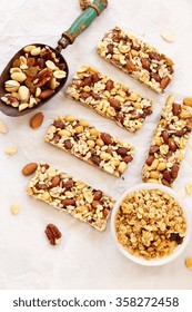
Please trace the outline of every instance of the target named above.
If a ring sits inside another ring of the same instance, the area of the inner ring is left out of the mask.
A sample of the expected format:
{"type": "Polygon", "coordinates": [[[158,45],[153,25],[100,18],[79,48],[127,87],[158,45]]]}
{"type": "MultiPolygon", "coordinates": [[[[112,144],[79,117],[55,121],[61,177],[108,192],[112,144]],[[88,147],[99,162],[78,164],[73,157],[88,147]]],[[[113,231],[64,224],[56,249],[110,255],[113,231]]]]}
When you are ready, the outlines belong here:
{"type": "Polygon", "coordinates": [[[80,6],[84,12],[79,16],[72,26],[62,33],[61,39],[58,41],[57,50],[65,49],[68,45],[72,45],[75,38],[83,32],[93,20],[102,13],[108,7],[108,0],[94,0],[93,2],[80,0],[80,6]]]}

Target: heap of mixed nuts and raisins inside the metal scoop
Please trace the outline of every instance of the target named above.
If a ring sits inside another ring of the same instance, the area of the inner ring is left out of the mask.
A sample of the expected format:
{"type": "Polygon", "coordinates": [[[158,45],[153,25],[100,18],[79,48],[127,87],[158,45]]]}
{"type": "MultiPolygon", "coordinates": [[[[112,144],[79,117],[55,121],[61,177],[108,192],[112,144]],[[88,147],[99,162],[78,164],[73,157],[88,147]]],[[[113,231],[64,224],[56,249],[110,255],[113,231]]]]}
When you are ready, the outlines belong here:
{"type": "Polygon", "coordinates": [[[12,62],[1,100],[19,111],[32,108],[52,96],[65,76],[65,64],[50,47],[27,46],[12,62]]]}

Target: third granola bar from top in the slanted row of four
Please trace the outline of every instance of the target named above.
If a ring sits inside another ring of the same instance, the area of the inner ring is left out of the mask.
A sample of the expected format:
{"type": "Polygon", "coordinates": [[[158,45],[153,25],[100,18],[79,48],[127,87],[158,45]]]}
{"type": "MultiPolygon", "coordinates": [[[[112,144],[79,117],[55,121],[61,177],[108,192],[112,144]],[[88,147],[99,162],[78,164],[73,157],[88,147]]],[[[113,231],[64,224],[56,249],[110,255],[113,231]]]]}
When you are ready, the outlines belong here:
{"type": "Polygon", "coordinates": [[[57,117],[44,140],[118,177],[133,159],[131,145],[74,116],[57,117]]]}

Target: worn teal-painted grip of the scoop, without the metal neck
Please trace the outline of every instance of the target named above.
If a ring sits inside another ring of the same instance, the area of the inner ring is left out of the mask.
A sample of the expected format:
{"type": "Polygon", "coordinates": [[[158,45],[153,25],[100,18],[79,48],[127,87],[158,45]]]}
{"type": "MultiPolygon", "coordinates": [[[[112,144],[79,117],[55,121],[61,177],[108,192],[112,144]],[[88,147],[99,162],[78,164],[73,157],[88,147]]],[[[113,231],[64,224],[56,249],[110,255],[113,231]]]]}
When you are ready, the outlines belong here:
{"type": "Polygon", "coordinates": [[[77,18],[72,26],[63,32],[63,36],[70,40],[70,43],[72,43],[75,38],[93,22],[98,14],[107,8],[108,1],[94,0],[92,4],[93,7],[89,7],[79,18],[77,18]]]}

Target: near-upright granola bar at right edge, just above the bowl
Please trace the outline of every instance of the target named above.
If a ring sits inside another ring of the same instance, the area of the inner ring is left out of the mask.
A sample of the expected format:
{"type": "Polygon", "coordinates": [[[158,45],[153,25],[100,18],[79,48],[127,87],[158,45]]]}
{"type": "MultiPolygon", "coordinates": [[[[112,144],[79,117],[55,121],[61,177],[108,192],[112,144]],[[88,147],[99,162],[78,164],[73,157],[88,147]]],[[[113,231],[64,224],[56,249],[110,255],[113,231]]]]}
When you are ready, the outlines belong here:
{"type": "Polygon", "coordinates": [[[192,107],[185,99],[180,105],[175,103],[174,96],[170,96],[162,109],[161,119],[142,169],[144,182],[172,186],[178,177],[191,130],[192,107]]]}

